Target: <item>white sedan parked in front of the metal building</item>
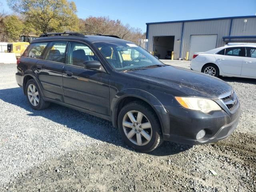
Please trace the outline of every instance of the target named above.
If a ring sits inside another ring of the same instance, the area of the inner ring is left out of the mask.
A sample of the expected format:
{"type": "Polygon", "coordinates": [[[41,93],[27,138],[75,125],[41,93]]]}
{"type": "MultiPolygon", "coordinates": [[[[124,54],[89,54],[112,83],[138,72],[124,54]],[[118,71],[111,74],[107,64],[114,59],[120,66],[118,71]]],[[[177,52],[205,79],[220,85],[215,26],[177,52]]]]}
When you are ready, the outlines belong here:
{"type": "Polygon", "coordinates": [[[194,54],[190,68],[215,77],[256,78],[256,45],[235,44],[194,54]]]}

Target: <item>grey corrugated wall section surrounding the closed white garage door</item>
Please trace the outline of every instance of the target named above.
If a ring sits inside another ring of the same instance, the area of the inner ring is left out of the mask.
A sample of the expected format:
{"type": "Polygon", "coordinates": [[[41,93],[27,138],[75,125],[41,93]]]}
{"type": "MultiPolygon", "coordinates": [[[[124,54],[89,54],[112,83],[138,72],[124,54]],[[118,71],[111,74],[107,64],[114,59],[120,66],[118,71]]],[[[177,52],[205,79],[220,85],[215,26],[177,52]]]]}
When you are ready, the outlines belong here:
{"type": "Polygon", "coordinates": [[[200,22],[185,22],[182,40],[182,55],[185,57],[186,52],[189,51],[191,35],[218,35],[216,47],[224,45],[223,36],[228,36],[230,28],[230,19],[226,20],[210,20],[200,22]]]}

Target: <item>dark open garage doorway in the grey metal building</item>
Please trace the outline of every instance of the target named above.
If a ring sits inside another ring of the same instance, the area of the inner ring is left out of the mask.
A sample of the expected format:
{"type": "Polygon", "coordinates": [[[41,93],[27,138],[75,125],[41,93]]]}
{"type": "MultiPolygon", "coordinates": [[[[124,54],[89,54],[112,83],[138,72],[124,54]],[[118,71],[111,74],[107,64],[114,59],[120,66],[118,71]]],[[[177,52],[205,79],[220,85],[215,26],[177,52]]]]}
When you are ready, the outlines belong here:
{"type": "Polygon", "coordinates": [[[153,52],[159,59],[170,59],[166,55],[171,55],[174,48],[174,36],[154,36],[153,52]]]}

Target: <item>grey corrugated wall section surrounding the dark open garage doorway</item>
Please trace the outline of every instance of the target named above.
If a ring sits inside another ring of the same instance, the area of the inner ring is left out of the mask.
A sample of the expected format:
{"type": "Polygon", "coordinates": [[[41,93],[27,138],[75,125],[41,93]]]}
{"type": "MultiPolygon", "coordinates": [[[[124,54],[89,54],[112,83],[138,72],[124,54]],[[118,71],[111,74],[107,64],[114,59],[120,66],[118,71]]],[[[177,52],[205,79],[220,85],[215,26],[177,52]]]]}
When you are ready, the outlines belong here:
{"type": "Polygon", "coordinates": [[[149,25],[148,51],[152,52],[154,36],[174,36],[174,58],[177,59],[180,54],[181,28],[182,23],[149,25]]]}

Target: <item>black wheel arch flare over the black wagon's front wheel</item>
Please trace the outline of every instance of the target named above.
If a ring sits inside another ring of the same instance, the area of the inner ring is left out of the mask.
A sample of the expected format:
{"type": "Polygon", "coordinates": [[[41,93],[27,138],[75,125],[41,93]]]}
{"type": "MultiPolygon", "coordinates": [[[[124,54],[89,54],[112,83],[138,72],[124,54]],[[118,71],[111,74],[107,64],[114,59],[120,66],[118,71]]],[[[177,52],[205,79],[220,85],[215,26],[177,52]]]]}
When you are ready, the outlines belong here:
{"type": "Polygon", "coordinates": [[[158,119],[162,127],[162,132],[165,133],[168,132],[168,130],[170,130],[170,121],[168,118],[168,113],[166,112],[166,109],[164,108],[162,103],[151,93],[146,92],[144,90],[133,88],[121,90],[112,99],[110,106],[110,115],[114,127],[117,127],[118,105],[126,97],[135,97],[144,100],[156,112],[156,115],[158,116],[158,119]]]}

